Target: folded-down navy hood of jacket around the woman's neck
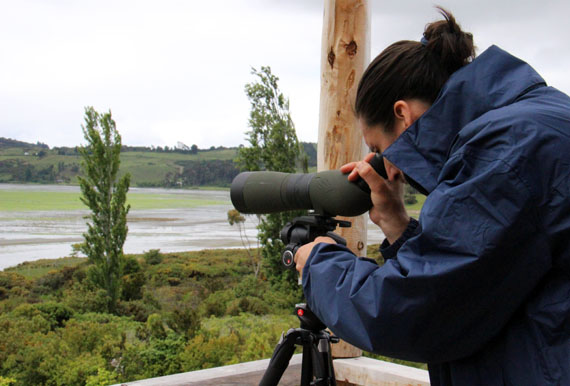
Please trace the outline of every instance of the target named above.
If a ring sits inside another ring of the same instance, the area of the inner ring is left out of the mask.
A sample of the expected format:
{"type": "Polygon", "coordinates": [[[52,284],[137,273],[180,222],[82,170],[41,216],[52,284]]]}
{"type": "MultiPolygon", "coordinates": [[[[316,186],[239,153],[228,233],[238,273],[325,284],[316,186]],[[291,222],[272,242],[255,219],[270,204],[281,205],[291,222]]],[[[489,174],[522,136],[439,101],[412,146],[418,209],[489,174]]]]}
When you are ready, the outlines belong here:
{"type": "Polygon", "coordinates": [[[491,46],[449,78],[433,105],[383,155],[431,193],[465,125],[541,84],[544,80],[530,65],[491,46]]]}

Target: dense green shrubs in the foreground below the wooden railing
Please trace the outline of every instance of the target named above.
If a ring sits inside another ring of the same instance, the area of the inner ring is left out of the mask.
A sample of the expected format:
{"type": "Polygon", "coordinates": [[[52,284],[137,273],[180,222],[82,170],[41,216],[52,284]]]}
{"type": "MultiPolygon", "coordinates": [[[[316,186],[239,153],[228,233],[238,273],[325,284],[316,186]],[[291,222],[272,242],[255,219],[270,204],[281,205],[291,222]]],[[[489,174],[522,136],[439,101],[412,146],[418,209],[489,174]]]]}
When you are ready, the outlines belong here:
{"type": "Polygon", "coordinates": [[[129,255],[115,314],[89,269],[65,258],[0,272],[0,384],[107,385],[268,358],[298,326],[295,291],[256,279],[243,250],[129,255]]]}

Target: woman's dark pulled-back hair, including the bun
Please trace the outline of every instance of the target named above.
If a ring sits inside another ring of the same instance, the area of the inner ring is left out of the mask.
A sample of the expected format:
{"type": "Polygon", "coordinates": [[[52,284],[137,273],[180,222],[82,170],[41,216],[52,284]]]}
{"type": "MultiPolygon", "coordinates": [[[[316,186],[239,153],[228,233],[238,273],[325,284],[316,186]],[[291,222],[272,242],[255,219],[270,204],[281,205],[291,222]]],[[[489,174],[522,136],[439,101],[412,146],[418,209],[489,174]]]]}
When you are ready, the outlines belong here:
{"type": "Polygon", "coordinates": [[[381,124],[391,130],[398,100],[416,98],[432,104],[451,74],[475,58],[473,35],[461,31],[451,13],[437,8],[445,20],[428,24],[422,43],[396,42],[364,71],[355,113],[368,126],[381,124]]]}

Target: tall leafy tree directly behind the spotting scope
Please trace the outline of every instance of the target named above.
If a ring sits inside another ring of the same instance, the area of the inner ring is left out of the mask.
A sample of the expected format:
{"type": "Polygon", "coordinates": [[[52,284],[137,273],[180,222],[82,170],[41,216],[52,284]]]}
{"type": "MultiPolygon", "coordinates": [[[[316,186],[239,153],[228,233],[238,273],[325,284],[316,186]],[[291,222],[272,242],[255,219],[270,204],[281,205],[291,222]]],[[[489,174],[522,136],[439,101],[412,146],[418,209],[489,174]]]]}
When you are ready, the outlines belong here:
{"type": "MultiPolygon", "coordinates": [[[[250,146],[239,149],[238,163],[242,170],[293,173],[304,153],[289,113],[289,100],[279,90],[279,79],[270,67],[261,67],[261,71],[253,68],[252,74],[256,81],[245,86],[251,104],[248,122],[251,130],[246,133],[250,146]]],[[[284,272],[281,265],[284,245],[279,233],[289,220],[300,214],[296,211],[261,217],[258,238],[263,247],[264,271],[273,283],[285,280],[296,286],[297,274],[284,272]]]]}

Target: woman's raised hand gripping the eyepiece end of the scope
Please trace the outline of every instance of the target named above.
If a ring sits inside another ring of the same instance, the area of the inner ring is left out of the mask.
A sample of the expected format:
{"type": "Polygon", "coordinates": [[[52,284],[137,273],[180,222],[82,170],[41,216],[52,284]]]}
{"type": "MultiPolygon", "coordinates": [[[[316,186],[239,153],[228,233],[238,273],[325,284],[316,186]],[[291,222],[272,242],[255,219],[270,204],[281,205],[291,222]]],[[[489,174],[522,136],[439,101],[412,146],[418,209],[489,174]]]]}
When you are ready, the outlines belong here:
{"type": "Polygon", "coordinates": [[[357,180],[359,176],[366,181],[372,199],[370,219],[382,229],[392,244],[404,233],[410,222],[404,207],[404,174],[384,158],[388,179],[380,177],[368,163],[372,157],[374,153],[369,153],[362,161],[343,165],[340,171],[350,173],[350,181],[357,180]]]}

